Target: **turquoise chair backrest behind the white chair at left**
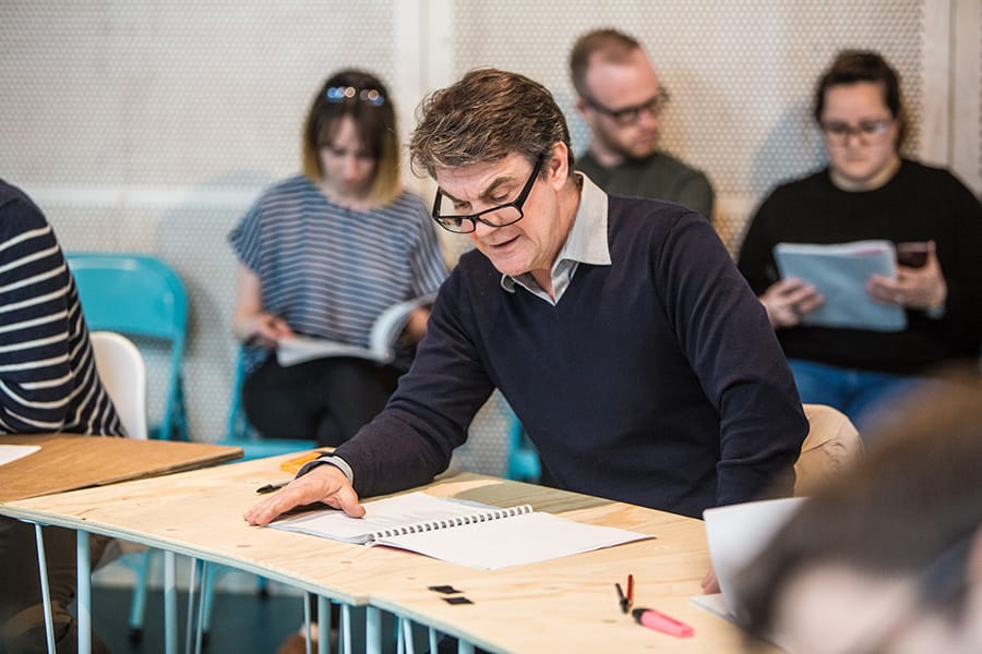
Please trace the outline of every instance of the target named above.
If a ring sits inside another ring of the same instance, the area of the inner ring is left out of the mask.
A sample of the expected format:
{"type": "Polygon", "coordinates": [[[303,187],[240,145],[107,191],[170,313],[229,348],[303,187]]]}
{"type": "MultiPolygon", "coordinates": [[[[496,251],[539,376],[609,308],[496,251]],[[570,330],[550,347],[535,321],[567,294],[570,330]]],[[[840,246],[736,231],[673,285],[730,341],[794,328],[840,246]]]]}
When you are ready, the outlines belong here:
{"type": "Polygon", "coordinates": [[[153,256],[129,253],[67,253],[92,330],[163,339],[170,343],[164,413],[153,432],[187,440],[181,362],[188,329],[188,293],[178,274],[153,256]]]}

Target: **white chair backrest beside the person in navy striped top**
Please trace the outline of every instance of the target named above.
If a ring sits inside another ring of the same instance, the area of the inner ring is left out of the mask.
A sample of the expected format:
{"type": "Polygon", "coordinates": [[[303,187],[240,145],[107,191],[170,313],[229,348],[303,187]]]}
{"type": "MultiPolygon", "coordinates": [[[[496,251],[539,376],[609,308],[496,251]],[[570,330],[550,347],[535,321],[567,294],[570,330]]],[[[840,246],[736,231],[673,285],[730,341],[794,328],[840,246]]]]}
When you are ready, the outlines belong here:
{"type": "Polygon", "coordinates": [[[145,440],[146,366],[133,341],[115,331],[93,331],[92,350],[106,392],[130,438],[145,440]]]}

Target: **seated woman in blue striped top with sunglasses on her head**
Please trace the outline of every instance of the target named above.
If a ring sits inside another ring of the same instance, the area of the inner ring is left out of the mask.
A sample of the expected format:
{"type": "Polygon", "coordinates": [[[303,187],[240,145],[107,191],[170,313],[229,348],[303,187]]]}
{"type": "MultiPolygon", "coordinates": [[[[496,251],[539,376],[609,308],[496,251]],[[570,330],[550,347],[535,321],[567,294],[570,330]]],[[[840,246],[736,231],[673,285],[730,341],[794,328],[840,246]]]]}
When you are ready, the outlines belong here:
{"type": "MultiPolygon", "coordinates": [[[[271,354],[300,335],[366,348],[383,311],[435,292],[447,271],[427,207],[403,189],[395,110],[376,77],[349,70],[326,81],[307,117],[302,168],[229,235],[239,259],[232,329],[246,343],[250,423],[266,437],[338,445],[381,411],[408,356],[280,365],[271,354]]],[[[406,343],[428,316],[409,314],[406,343]]]]}

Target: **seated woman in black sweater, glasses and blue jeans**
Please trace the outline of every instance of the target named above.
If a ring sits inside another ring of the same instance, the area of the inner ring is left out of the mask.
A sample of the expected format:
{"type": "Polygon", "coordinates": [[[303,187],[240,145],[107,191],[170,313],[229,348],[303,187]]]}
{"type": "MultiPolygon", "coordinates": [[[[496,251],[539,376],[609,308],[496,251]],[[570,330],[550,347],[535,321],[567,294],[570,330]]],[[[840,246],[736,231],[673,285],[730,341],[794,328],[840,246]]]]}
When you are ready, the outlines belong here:
{"type": "Polygon", "coordinates": [[[828,167],[764,201],[739,265],[777,329],[802,401],[839,409],[862,432],[877,407],[925,382],[932,368],[978,360],[982,207],[946,170],[901,157],[908,124],[900,81],[879,55],[839,53],[818,83],[814,116],[828,167]],[[865,240],[896,244],[896,276],[871,276],[865,292],[902,307],[906,327],[809,324],[830,299],[807,279],[780,279],[774,247],[865,240]]]}

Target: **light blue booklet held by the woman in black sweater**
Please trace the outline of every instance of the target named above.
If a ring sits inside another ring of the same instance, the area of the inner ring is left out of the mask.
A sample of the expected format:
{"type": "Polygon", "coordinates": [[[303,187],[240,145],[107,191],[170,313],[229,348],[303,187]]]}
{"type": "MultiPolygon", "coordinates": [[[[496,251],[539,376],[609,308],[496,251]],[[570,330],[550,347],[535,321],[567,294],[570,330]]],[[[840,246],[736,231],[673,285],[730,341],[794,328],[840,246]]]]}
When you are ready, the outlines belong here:
{"type": "Polygon", "coordinates": [[[907,328],[903,307],[882,304],[866,293],[871,275],[897,275],[897,253],[891,242],[778,243],[774,258],[782,278],[806,281],[825,298],[822,306],[802,317],[802,325],[875,331],[907,328]]]}

